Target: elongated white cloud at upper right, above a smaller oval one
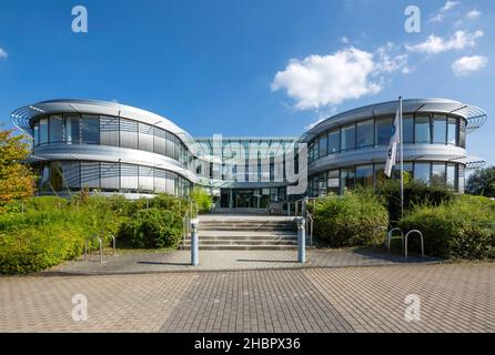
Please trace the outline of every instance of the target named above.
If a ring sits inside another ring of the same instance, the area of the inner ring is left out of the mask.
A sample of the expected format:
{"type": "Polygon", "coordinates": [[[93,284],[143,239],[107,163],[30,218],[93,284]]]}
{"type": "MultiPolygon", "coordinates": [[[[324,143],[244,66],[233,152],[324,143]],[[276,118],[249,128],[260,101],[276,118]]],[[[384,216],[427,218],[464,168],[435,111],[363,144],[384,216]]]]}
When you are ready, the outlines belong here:
{"type": "Polygon", "coordinates": [[[406,45],[406,49],[413,52],[437,54],[449,50],[462,50],[468,47],[475,47],[476,40],[481,37],[483,37],[483,31],[476,31],[474,33],[456,31],[449,39],[432,34],[426,41],[414,45],[406,45]]]}

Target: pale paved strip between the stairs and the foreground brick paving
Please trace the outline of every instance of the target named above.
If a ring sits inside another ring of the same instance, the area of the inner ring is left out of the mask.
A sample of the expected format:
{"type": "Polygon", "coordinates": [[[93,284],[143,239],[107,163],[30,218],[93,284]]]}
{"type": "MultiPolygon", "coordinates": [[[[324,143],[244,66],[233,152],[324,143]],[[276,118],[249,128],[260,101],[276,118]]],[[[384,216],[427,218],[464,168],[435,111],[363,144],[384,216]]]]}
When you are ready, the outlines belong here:
{"type": "MultiPolygon", "coordinates": [[[[367,250],[310,250],[304,267],[377,266],[394,264],[435,263],[428,257],[388,256],[367,250]]],[[[158,272],[196,272],[231,270],[301,268],[294,251],[200,251],[200,265],[192,267],[190,251],[161,253],[125,253],[104,255],[103,263],[95,254],[88,262],[81,258],[53,267],[48,273],[108,275],[158,272]]]]}

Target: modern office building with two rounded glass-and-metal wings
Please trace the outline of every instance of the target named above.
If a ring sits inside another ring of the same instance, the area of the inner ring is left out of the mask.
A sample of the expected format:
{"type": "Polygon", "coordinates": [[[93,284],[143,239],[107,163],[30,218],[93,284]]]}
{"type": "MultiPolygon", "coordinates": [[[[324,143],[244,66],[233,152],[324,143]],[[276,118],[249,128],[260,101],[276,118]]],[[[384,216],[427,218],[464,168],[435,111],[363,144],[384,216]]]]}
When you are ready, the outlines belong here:
{"type": "MultiPolygon", "coordinates": [[[[41,194],[88,187],[130,197],[188,195],[201,185],[220,207],[284,209],[301,195],[342,193],[384,179],[396,109],[393,101],[351,110],[300,138],[194,139],[163,116],[103,101],[43,101],[11,118],[33,139],[30,163],[41,176],[41,194]],[[294,185],[304,191],[294,195],[294,185]]],[[[467,155],[466,135],[486,113],[441,99],[404,100],[403,113],[405,170],[463,192],[465,170],[483,164],[467,155]]]]}

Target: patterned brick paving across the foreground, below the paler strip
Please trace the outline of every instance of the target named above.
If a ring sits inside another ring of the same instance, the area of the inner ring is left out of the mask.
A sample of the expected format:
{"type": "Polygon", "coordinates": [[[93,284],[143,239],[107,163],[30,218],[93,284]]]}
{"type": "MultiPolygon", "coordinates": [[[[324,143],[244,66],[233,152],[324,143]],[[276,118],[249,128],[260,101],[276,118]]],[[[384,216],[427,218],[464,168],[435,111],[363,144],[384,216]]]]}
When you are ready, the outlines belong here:
{"type": "Polygon", "coordinates": [[[494,295],[489,263],[0,277],[0,332],[495,332],[494,295]]]}

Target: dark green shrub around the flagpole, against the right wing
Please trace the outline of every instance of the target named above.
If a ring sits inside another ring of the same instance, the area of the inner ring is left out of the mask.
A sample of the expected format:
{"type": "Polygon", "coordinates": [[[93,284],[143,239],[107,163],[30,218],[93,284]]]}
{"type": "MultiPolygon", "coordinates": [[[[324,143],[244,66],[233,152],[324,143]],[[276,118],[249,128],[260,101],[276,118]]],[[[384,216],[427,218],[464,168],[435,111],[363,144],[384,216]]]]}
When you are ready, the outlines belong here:
{"type": "MultiPolygon", "coordinates": [[[[387,180],[381,183],[376,193],[385,201],[391,222],[395,225],[401,221],[401,189],[397,180],[387,180]]],[[[454,199],[454,192],[444,185],[427,185],[422,181],[411,180],[404,185],[404,212],[415,205],[430,204],[437,206],[454,199]]]]}

